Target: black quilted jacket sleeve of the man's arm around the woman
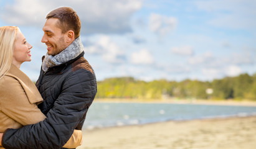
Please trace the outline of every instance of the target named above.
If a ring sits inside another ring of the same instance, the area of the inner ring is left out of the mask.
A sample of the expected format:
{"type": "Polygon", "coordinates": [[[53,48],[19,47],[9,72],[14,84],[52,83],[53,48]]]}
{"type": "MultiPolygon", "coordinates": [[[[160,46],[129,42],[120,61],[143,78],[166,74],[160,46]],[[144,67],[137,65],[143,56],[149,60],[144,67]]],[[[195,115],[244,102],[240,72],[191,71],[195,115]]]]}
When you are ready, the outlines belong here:
{"type": "Polygon", "coordinates": [[[47,113],[47,118],[21,129],[8,129],[2,137],[4,148],[61,148],[73,133],[95,97],[95,76],[77,70],[62,86],[62,93],[47,113]]]}

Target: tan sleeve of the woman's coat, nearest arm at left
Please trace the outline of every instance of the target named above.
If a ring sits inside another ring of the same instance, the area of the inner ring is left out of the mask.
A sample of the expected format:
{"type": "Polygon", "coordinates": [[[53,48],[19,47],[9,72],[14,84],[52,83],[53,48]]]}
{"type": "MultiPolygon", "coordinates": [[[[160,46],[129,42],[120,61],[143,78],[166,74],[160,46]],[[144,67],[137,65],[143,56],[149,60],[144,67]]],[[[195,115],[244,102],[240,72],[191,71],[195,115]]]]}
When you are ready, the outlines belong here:
{"type": "Polygon", "coordinates": [[[17,79],[6,76],[4,88],[1,88],[1,111],[21,125],[36,124],[45,119],[45,115],[36,104],[31,104],[17,79]]]}

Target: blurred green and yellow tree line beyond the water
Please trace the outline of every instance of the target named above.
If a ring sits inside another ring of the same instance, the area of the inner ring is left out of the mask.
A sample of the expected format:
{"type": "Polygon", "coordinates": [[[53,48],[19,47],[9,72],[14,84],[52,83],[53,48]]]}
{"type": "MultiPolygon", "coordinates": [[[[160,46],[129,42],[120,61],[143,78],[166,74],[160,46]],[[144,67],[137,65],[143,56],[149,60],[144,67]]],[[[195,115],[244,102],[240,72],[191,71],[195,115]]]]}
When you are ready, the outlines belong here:
{"type": "Polygon", "coordinates": [[[121,99],[237,99],[256,101],[256,74],[199,81],[159,79],[141,81],[132,77],[98,81],[97,98],[121,99]]]}

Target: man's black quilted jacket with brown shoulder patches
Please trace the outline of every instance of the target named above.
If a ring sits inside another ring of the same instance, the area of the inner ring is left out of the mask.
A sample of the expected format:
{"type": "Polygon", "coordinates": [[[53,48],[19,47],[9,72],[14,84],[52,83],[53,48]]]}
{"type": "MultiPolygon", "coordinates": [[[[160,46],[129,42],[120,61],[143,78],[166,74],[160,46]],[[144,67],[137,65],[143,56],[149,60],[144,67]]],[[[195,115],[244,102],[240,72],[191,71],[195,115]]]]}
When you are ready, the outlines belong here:
{"type": "Polygon", "coordinates": [[[21,129],[7,129],[4,148],[61,148],[74,129],[82,129],[88,108],[97,93],[95,73],[81,53],[74,60],[40,71],[36,83],[44,102],[45,120],[21,129]]]}

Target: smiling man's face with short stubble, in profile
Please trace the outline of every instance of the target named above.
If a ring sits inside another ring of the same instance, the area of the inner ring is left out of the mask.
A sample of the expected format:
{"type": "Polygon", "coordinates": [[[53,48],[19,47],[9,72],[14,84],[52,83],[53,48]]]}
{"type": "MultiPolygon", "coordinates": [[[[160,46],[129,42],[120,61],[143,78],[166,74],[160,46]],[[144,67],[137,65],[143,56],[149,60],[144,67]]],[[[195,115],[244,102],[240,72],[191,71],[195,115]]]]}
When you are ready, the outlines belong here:
{"type": "Polygon", "coordinates": [[[65,42],[65,34],[62,34],[62,30],[57,27],[58,19],[50,18],[47,19],[43,30],[44,36],[41,42],[47,45],[48,55],[57,55],[67,48],[67,43],[65,42]]]}

